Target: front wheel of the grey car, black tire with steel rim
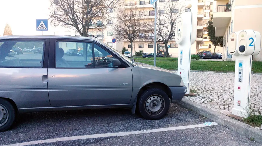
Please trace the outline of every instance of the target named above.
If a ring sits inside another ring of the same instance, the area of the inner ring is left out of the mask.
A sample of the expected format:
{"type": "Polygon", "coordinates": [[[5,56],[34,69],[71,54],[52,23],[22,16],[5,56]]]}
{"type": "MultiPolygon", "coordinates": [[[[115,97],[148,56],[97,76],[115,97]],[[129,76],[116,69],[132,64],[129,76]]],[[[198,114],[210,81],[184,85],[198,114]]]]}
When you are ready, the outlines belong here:
{"type": "Polygon", "coordinates": [[[147,120],[163,118],[169,110],[169,105],[169,97],[158,88],[144,91],[138,101],[139,112],[147,120]]]}

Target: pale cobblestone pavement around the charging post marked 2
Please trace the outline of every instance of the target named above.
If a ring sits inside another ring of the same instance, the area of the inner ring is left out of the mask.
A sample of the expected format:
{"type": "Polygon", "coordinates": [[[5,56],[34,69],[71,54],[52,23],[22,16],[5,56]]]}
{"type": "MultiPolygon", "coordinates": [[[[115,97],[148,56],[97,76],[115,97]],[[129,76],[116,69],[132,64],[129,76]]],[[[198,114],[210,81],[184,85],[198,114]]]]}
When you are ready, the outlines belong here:
{"type": "MultiPolygon", "coordinates": [[[[234,100],[233,73],[190,72],[190,88],[197,96],[186,97],[214,111],[229,114],[234,100]]],[[[252,74],[249,103],[256,114],[262,112],[262,75],[252,74]]]]}

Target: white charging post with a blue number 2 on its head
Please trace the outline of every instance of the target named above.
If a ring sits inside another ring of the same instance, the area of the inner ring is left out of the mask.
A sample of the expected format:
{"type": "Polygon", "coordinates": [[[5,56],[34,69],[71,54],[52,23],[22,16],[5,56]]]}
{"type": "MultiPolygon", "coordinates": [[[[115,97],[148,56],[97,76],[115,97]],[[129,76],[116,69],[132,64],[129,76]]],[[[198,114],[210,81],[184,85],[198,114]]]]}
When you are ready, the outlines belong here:
{"type": "Polygon", "coordinates": [[[234,103],[232,114],[249,116],[252,55],[259,54],[261,34],[253,30],[241,30],[229,35],[228,51],[236,56],[234,103]]]}

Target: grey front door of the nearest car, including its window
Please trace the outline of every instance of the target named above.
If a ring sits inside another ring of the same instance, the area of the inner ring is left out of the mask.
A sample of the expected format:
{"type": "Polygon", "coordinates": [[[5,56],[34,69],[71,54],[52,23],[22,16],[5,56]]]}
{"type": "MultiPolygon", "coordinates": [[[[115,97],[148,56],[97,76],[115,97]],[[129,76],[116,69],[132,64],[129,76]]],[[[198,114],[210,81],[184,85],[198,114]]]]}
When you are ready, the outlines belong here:
{"type": "Polygon", "coordinates": [[[49,63],[55,62],[54,66],[48,69],[52,106],[129,104],[133,86],[131,67],[112,67],[110,57],[117,58],[114,53],[94,42],[72,39],[51,42],[55,49],[49,56],[56,54],[49,59],[49,63]],[[83,56],[63,56],[66,43],[82,44],[83,56]],[[92,50],[92,54],[87,56],[87,50],[92,50]]]}

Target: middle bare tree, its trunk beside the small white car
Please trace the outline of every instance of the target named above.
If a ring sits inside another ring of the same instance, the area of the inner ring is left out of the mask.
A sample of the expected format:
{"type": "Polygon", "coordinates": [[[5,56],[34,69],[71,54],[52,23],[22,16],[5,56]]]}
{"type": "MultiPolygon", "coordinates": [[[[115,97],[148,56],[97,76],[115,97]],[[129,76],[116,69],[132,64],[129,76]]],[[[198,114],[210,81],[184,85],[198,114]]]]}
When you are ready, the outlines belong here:
{"type": "Polygon", "coordinates": [[[133,43],[135,40],[140,39],[140,35],[144,32],[144,22],[141,19],[147,16],[147,12],[143,8],[137,8],[136,4],[131,3],[130,5],[128,10],[124,8],[117,10],[116,23],[112,27],[116,39],[130,42],[132,58],[133,43]]]}

